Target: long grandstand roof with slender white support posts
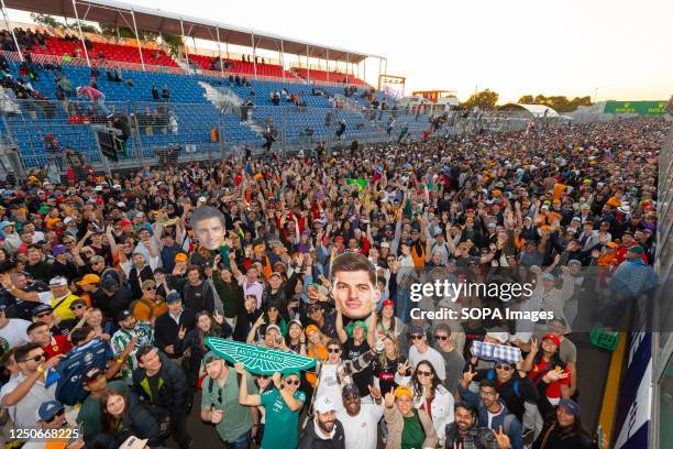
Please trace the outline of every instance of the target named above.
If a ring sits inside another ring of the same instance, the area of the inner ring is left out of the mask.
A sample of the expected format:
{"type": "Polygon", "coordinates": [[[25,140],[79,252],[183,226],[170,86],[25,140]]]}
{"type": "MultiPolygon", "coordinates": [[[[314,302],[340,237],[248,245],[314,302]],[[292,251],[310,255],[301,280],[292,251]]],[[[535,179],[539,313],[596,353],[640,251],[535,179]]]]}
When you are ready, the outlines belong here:
{"type": "MultiPolygon", "coordinates": [[[[150,9],[123,3],[112,0],[0,0],[4,17],[4,24],[11,31],[9,25],[7,9],[15,9],[21,11],[35,12],[40,14],[52,14],[74,19],[78,24],[80,41],[84,42],[84,33],[81,32],[80,23],[82,21],[99,22],[115,26],[125,26],[133,31],[140,56],[140,65],[142,70],[152,69],[146,66],[141,51],[141,41],[139,39],[139,30],[153,31],[162,34],[180,35],[183,40],[188,37],[200,39],[214,42],[218,46],[218,55],[220,63],[222,62],[221,44],[238,45],[252,48],[253,56],[257,50],[277,52],[283,67],[289,67],[286,63],[286,55],[296,55],[300,61],[305,58],[307,67],[307,81],[311,81],[311,59],[313,62],[324,62],[329,67],[333,63],[336,67],[339,64],[344,64],[345,73],[339,76],[345,76],[345,84],[349,84],[351,73],[362,67],[362,78],[366,77],[366,61],[377,59],[378,76],[385,75],[387,72],[387,58],[384,56],[356,52],[345,48],[340,48],[330,45],[306,42],[293,37],[282,36],[274,33],[268,33],[260,30],[245,29],[242,26],[230,25],[227,23],[216,22],[194,18],[185,14],[176,14],[158,9],[150,9]]],[[[13,34],[13,33],[12,33],[13,34]]],[[[14,36],[15,41],[15,36],[14,36]]],[[[87,65],[91,64],[91,58],[82,44],[82,53],[87,65]]],[[[225,54],[227,52],[224,52],[225,54]]],[[[21,57],[21,55],[19,55],[21,57]]],[[[187,65],[189,65],[189,55],[186,55],[187,65]]],[[[257,63],[253,58],[255,79],[257,78],[257,63]]],[[[328,70],[329,74],[329,70],[328,70]]],[[[206,74],[209,76],[218,76],[214,73],[206,74]]],[[[224,76],[224,69],[220,64],[220,76],[224,76]]],[[[329,78],[329,75],[328,75],[329,78]]],[[[377,78],[378,79],[378,78],[377,78]]],[[[283,80],[285,81],[285,72],[283,72],[283,80]]],[[[327,83],[330,83],[328,79],[327,83]]],[[[321,81],[320,84],[324,84],[321,81]]]]}

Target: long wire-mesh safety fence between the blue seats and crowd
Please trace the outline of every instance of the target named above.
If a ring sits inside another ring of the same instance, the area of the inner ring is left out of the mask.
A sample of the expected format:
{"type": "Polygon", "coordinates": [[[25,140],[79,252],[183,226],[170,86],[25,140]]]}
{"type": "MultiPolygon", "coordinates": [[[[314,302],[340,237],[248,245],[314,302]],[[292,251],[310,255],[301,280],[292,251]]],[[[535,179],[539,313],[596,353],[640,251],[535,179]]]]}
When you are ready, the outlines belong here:
{"type": "Polygon", "coordinates": [[[15,100],[1,94],[0,131],[23,168],[65,171],[74,150],[97,169],[216,161],[246,151],[279,155],[439,135],[523,130],[529,119],[497,113],[245,106],[233,102],[15,100]]]}

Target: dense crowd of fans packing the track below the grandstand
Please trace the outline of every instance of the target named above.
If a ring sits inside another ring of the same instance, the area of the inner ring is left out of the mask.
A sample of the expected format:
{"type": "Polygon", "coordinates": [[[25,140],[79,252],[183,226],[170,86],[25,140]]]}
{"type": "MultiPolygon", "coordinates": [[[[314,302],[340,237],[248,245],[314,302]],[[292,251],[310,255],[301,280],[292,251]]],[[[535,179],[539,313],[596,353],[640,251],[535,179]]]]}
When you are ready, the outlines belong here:
{"type": "Polygon", "coordinates": [[[42,431],[14,447],[189,448],[197,414],[236,449],[593,448],[571,332],[599,310],[577,299],[654,285],[665,132],[629,119],[4,185],[0,406],[42,431]],[[533,289],[411,298],[443,280],[533,289]],[[554,316],[412,311],[504,305],[554,316]],[[317,364],[262,375],[208,337],[317,364]]]}

